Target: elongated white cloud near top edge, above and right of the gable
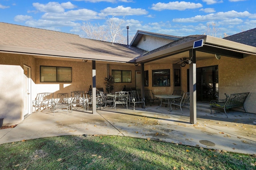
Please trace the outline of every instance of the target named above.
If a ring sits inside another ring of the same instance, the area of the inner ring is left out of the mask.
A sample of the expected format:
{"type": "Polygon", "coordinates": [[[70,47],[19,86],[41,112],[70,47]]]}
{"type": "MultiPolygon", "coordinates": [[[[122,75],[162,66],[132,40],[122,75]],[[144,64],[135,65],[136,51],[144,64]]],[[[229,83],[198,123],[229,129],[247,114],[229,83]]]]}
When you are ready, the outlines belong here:
{"type": "Polygon", "coordinates": [[[162,10],[186,10],[186,9],[195,9],[201,8],[202,4],[200,3],[192,3],[192,2],[169,2],[169,3],[162,3],[158,2],[157,4],[152,4],[152,10],[162,11],[162,10]]]}

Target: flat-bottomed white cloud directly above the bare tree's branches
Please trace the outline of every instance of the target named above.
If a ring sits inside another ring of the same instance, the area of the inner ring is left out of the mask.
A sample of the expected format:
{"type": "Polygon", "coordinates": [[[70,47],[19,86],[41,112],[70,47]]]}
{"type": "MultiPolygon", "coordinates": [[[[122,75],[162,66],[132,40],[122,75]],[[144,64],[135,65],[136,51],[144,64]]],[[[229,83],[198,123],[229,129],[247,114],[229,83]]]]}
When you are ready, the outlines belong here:
{"type": "Polygon", "coordinates": [[[114,15],[114,16],[132,16],[132,15],[146,15],[148,12],[141,8],[131,8],[131,7],[124,7],[124,6],[118,6],[116,8],[105,8],[104,10],[100,11],[101,14],[99,16],[108,16],[108,15],[114,15]]]}

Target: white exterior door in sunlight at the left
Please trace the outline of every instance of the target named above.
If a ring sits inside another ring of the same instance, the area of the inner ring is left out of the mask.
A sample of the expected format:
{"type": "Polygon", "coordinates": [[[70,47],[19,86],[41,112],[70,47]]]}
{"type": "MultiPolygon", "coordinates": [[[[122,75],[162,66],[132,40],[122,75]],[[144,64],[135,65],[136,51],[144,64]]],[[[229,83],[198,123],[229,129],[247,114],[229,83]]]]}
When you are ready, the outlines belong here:
{"type": "Polygon", "coordinates": [[[31,68],[28,66],[24,69],[24,116],[31,113],[31,68]]]}

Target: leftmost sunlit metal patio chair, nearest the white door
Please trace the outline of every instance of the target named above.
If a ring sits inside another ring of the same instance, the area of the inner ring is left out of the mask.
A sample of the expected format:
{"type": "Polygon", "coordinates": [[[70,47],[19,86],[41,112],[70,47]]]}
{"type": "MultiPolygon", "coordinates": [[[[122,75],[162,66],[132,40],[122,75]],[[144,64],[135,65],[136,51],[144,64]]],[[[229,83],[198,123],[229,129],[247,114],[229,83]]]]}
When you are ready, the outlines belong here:
{"type": "Polygon", "coordinates": [[[39,111],[41,108],[42,109],[49,108],[51,106],[52,99],[53,99],[53,93],[49,93],[49,92],[38,93],[36,95],[35,100],[33,100],[32,102],[32,106],[35,107],[35,111],[39,111]]]}

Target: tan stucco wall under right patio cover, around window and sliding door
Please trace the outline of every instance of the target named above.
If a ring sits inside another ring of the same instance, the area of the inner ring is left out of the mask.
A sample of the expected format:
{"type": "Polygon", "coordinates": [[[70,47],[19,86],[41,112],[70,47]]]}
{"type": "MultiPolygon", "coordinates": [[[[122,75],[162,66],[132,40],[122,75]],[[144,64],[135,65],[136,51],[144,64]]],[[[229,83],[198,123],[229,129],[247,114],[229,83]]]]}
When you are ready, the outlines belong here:
{"type": "MultiPolygon", "coordinates": [[[[235,94],[250,92],[244,107],[249,113],[256,113],[256,56],[245,57],[244,59],[235,59],[222,56],[220,60],[215,57],[196,62],[196,67],[206,67],[218,65],[219,96],[224,99],[226,94],[235,94]]],[[[154,94],[171,94],[173,90],[183,90],[187,92],[187,69],[185,67],[175,66],[174,64],[146,65],[144,70],[148,70],[149,86],[145,89],[153,90],[154,94]],[[170,87],[152,87],[152,70],[171,69],[170,87]],[[180,68],[181,86],[174,87],[174,68],[180,68]]]]}

